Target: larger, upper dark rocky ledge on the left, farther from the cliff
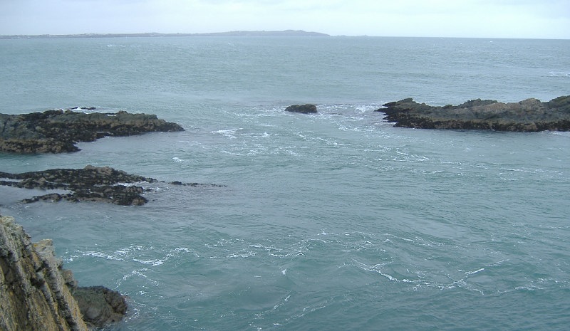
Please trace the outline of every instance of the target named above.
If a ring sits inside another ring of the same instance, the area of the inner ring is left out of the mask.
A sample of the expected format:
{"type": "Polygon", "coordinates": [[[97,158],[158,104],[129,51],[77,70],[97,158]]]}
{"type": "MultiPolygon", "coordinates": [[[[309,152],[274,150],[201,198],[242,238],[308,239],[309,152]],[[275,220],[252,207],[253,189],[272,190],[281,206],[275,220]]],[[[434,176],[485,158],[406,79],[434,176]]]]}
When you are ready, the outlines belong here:
{"type": "Polygon", "coordinates": [[[0,151],[76,152],[79,150],[75,145],[77,142],[92,142],[101,137],[183,130],[176,123],[157,119],[156,115],[130,114],[123,111],[85,113],[72,110],[47,110],[24,115],[0,114],[0,151]]]}

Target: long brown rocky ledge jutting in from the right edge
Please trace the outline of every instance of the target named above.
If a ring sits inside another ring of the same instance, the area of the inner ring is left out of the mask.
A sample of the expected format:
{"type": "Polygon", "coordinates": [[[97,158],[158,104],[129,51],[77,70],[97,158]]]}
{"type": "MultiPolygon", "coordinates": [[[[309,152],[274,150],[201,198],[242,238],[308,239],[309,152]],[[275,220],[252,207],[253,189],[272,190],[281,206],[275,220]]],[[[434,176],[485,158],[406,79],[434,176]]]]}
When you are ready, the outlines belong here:
{"type": "Polygon", "coordinates": [[[548,102],[519,103],[470,100],[461,105],[435,107],[404,99],[386,103],[377,112],[397,127],[513,132],[570,131],[570,95],[548,102]]]}

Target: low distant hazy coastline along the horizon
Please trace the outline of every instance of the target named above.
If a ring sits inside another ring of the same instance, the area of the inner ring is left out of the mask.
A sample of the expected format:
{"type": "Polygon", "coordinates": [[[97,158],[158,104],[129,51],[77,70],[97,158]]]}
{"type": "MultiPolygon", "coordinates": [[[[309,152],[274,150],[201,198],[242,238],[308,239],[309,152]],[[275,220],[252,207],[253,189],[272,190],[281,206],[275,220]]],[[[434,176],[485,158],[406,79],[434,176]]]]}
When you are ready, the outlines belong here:
{"type": "Polygon", "coordinates": [[[45,38],[125,38],[125,37],[245,37],[245,36],[307,36],[328,37],[326,33],[302,30],[284,31],[228,31],[212,33],[83,33],[83,34],[40,34],[0,36],[0,39],[45,39],[45,38]]]}

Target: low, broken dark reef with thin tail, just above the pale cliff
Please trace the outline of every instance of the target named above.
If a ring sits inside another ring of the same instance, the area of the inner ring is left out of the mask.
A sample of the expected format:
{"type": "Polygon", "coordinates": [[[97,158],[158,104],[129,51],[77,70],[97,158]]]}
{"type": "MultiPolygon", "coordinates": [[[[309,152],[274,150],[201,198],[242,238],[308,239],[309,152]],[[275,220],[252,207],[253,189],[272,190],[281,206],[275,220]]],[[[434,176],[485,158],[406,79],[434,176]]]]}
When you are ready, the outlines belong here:
{"type": "MultiPolygon", "coordinates": [[[[148,202],[143,196],[141,183],[160,182],[149,177],[128,174],[110,167],[86,166],[83,169],[48,169],[39,172],[11,174],[0,172],[0,185],[21,189],[52,190],[51,193],[24,199],[24,203],[35,201],[97,201],[123,206],[140,206],[148,202]],[[58,190],[53,192],[53,190],[58,190]]],[[[221,186],[171,182],[183,186],[221,186]]]]}

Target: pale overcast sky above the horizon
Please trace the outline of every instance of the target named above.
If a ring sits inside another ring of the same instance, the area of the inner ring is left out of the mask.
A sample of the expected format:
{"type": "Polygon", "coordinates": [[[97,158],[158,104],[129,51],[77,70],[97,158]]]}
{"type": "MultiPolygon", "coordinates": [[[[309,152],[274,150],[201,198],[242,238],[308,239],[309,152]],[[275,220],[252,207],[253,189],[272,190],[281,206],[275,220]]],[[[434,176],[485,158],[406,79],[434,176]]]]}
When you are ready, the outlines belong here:
{"type": "Polygon", "coordinates": [[[570,39],[570,0],[0,0],[0,35],[289,29],[570,39]]]}

